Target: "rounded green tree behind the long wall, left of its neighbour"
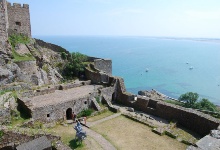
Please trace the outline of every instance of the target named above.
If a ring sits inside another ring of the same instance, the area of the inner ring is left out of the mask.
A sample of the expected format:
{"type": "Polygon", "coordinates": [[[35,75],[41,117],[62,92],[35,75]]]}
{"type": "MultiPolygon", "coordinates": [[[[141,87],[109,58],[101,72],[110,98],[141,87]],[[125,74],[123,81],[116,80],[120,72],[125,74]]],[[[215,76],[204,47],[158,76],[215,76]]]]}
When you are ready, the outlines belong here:
{"type": "Polygon", "coordinates": [[[195,107],[195,103],[199,98],[199,94],[193,92],[187,92],[180,95],[179,101],[185,102],[186,107],[195,107]]]}

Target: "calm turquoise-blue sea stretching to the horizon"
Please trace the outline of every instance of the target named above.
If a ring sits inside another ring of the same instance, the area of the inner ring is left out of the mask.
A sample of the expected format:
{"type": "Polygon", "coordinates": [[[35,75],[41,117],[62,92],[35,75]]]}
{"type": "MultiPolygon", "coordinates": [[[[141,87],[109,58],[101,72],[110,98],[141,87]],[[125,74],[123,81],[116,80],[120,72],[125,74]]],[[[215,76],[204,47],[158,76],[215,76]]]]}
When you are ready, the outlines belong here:
{"type": "Polygon", "coordinates": [[[129,92],[156,89],[174,98],[197,92],[201,98],[220,105],[218,42],[148,37],[36,38],[70,52],[112,59],[113,75],[124,78],[129,92]]]}

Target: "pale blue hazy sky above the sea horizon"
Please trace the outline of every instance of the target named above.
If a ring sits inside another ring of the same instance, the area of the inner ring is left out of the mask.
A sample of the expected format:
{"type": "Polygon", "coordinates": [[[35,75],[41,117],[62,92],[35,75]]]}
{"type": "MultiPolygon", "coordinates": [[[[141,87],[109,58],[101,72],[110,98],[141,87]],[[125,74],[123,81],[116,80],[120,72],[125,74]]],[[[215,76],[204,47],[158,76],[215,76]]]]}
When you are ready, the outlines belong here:
{"type": "Polygon", "coordinates": [[[30,5],[32,35],[220,38],[220,0],[10,0],[30,5]]]}

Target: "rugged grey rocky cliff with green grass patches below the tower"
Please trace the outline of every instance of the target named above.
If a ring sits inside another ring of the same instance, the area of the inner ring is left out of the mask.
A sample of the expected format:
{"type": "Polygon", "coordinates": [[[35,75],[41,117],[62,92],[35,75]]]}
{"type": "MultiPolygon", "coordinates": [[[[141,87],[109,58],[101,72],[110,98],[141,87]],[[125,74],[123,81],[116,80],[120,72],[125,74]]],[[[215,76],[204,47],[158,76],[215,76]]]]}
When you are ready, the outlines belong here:
{"type": "Polygon", "coordinates": [[[0,86],[13,82],[29,86],[57,84],[66,63],[61,54],[65,49],[41,40],[11,37],[0,47],[0,86]]]}

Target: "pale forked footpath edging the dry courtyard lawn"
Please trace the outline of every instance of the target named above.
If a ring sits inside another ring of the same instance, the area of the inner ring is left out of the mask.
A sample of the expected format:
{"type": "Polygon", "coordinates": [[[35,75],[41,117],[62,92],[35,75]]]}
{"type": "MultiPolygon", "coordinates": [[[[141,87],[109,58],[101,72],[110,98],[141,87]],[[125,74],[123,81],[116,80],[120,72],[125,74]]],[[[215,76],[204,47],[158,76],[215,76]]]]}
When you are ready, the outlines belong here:
{"type": "MultiPolygon", "coordinates": [[[[115,117],[118,117],[120,115],[121,114],[118,113],[118,114],[114,114],[114,115],[111,115],[109,117],[100,119],[100,120],[95,121],[95,122],[88,122],[87,126],[91,127],[91,126],[94,126],[96,124],[102,123],[104,121],[107,121],[107,120],[113,119],[115,117]]],[[[83,127],[83,129],[84,129],[84,131],[86,131],[87,135],[91,136],[97,143],[99,143],[99,145],[101,145],[101,147],[104,150],[116,150],[116,148],[109,141],[107,141],[102,135],[100,135],[100,134],[96,133],[95,131],[93,131],[89,128],[86,128],[86,127],[83,127]]]]}

